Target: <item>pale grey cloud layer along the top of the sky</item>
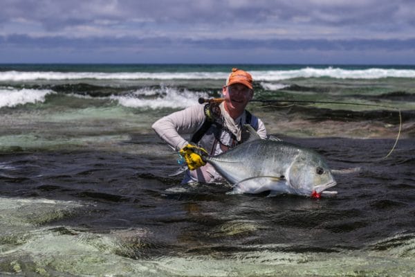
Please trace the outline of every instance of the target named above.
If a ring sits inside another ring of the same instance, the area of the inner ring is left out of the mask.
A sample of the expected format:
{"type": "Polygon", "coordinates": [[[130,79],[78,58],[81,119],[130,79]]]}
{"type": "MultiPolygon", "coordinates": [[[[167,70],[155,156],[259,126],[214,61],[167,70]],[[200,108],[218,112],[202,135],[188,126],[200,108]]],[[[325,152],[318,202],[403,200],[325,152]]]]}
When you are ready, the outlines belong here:
{"type": "Polygon", "coordinates": [[[252,24],[257,28],[261,28],[261,24],[275,24],[276,27],[307,24],[359,26],[380,31],[385,30],[385,26],[391,30],[414,26],[414,12],[408,12],[412,10],[415,10],[415,3],[405,0],[3,0],[0,22],[6,24],[21,19],[40,24],[45,30],[84,25],[111,28],[114,24],[136,21],[178,24],[183,32],[185,28],[194,28],[195,24],[207,24],[210,28],[226,24],[231,24],[230,28],[237,24],[252,24]]]}

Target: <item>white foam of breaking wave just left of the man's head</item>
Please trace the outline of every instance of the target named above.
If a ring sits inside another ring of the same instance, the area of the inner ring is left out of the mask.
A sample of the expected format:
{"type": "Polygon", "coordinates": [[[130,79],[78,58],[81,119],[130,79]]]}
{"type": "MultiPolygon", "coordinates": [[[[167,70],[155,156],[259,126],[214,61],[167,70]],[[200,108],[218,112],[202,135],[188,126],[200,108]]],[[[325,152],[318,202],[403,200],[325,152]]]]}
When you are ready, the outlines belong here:
{"type": "Polygon", "coordinates": [[[203,92],[178,91],[175,88],[162,87],[154,90],[140,89],[128,96],[111,96],[111,99],[118,101],[124,107],[179,109],[195,105],[200,97],[205,98],[207,96],[208,94],[203,92]]]}

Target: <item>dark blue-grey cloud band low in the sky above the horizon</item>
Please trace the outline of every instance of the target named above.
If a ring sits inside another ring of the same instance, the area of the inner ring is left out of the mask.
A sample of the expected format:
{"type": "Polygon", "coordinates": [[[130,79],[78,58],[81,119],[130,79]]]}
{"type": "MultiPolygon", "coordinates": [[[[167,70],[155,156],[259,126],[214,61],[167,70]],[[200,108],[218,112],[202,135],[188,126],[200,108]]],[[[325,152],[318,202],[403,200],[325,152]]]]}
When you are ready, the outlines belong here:
{"type": "Polygon", "coordinates": [[[86,37],[64,36],[30,37],[29,35],[0,35],[3,47],[18,48],[206,48],[206,49],[261,49],[283,51],[369,51],[415,50],[413,39],[172,39],[169,37],[86,37]]]}

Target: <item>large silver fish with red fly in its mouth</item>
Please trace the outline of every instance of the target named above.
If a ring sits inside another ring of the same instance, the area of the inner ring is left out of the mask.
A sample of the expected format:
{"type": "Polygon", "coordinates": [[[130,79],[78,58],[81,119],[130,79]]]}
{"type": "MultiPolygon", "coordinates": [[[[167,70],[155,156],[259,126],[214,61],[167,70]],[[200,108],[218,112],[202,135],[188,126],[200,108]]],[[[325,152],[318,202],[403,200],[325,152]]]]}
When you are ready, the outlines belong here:
{"type": "Polygon", "coordinates": [[[324,192],[335,186],[329,166],[317,152],[292,143],[259,139],[255,130],[246,126],[250,140],[205,161],[230,184],[231,193],[282,193],[320,197],[335,195],[324,192]]]}

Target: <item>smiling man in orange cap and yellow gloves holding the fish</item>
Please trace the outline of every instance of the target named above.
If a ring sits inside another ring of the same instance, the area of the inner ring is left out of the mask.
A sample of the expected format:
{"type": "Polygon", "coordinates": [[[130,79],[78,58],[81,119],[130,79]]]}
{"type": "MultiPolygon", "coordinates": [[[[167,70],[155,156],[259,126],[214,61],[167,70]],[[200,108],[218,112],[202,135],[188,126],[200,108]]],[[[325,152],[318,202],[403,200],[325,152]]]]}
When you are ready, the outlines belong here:
{"type": "Polygon", "coordinates": [[[209,163],[203,161],[202,152],[217,155],[243,143],[243,125],[250,124],[261,139],[266,138],[264,123],[245,109],[254,96],[250,73],[232,69],[222,93],[224,100],[220,104],[188,107],[160,118],[152,126],[161,139],[184,157],[189,170],[183,184],[224,181],[209,163]],[[187,141],[181,134],[193,135],[187,141]]]}

